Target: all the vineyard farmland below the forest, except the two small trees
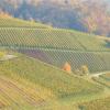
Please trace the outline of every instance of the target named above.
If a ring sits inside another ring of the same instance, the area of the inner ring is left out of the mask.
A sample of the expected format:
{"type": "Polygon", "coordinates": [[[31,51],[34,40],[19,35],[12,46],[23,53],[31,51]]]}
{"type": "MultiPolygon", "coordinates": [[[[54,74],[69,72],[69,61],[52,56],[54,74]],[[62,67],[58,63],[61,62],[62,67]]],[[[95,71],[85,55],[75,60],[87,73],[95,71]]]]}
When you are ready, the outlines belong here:
{"type": "Polygon", "coordinates": [[[107,72],[103,38],[0,18],[0,110],[110,110],[107,72]],[[66,63],[70,73],[63,69],[66,63]],[[79,76],[85,65],[89,74],[79,76]]]}

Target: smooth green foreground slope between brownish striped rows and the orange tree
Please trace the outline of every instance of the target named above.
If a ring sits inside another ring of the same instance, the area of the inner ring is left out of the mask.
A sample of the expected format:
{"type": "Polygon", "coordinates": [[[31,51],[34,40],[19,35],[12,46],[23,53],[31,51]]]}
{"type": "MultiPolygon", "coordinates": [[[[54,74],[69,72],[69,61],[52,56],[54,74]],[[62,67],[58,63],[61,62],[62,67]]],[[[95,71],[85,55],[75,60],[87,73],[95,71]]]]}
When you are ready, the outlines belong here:
{"type": "Polygon", "coordinates": [[[62,70],[23,56],[3,62],[0,64],[0,69],[4,75],[11,76],[15,73],[31,82],[50,88],[59,98],[100,91],[99,87],[86,80],[66,75],[62,70]]]}

